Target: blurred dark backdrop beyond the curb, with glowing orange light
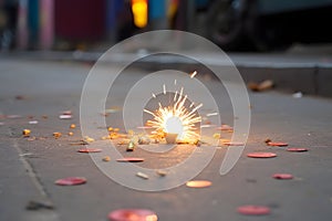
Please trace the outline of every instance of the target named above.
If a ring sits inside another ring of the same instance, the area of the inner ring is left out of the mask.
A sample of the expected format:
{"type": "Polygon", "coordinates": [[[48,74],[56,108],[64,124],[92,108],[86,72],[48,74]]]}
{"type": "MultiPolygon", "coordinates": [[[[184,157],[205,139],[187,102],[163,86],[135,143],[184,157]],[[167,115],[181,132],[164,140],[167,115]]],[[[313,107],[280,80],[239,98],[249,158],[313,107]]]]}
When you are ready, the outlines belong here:
{"type": "Polygon", "coordinates": [[[0,0],[0,48],[106,50],[133,34],[174,29],[226,51],[331,43],[332,0],[0,0]]]}

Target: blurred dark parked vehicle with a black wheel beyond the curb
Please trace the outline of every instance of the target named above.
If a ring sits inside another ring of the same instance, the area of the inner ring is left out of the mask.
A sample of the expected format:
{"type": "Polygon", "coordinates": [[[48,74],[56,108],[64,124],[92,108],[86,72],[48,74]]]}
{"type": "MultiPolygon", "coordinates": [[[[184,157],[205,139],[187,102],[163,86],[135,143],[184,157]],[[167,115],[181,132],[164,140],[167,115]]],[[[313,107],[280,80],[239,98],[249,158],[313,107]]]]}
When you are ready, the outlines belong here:
{"type": "Polygon", "coordinates": [[[215,0],[206,34],[224,50],[283,50],[332,42],[332,0],[215,0]]]}

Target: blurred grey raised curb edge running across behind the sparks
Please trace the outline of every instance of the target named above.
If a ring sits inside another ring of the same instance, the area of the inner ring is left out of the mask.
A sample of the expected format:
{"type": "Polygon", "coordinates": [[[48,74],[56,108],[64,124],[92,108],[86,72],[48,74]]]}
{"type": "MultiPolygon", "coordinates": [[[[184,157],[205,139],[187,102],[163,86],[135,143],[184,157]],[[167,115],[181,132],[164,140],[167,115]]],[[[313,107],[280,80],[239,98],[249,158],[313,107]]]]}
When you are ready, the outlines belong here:
{"type": "MultiPolygon", "coordinates": [[[[22,59],[32,61],[55,61],[55,62],[80,62],[95,63],[103,52],[7,52],[0,53],[0,59],[22,59]]],[[[107,57],[106,62],[121,63],[133,61],[136,53],[122,53],[107,57]]],[[[332,60],[318,56],[302,56],[288,54],[235,54],[229,57],[236,64],[245,82],[262,82],[271,80],[274,88],[290,93],[301,92],[304,95],[317,95],[332,97],[332,60]]],[[[205,64],[222,65],[214,55],[204,54],[201,60],[205,64]]],[[[177,69],[187,66],[190,70],[199,69],[197,62],[181,59],[174,55],[156,55],[139,60],[135,63],[138,67],[148,70],[177,69]]]]}

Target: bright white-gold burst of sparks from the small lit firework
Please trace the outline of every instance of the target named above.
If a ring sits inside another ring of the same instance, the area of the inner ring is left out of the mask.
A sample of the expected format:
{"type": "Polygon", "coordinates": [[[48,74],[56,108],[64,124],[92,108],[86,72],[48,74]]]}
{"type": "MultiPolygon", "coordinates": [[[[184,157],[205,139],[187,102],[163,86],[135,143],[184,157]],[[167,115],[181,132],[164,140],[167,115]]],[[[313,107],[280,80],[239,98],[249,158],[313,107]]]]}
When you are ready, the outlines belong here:
{"type": "MultiPolygon", "coordinates": [[[[201,122],[201,117],[197,116],[196,110],[203,106],[197,106],[191,103],[187,108],[185,103],[187,95],[183,96],[184,88],[179,93],[174,95],[174,105],[162,106],[155,112],[144,109],[145,113],[151,114],[154,120],[149,120],[149,125],[155,128],[156,131],[163,131],[166,134],[177,134],[177,139],[181,141],[195,141],[199,138],[195,124],[201,122]],[[194,108],[193,108],[194,107],[194,108]]],[[[165,92],[165,86],[164,86],[165,92]]]]}

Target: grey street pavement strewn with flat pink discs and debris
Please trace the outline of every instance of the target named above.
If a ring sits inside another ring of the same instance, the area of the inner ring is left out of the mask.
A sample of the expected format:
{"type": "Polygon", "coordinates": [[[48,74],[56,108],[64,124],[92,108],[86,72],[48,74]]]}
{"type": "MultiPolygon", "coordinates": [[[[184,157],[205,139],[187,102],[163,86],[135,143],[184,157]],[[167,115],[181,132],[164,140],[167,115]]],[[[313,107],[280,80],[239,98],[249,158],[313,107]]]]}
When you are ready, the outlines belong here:
{"type": "MultiPolygon", "coordinates": [[[[106,177],[83,146],[70,145],[82,139],[80,98],[90,63],[40,62],[14,59],[0,61],[0,220],[27,221],[103,221],[108,212],[122,208],[144,208],[156,212],[159,220],[331,220],[332,218],[332,102],[274,91],[249,93],[251,127],[246,149],[236,167],[226,176],[219,167],[227,151],[217,149],[208,167],[196,179],[210,180],[203,189],[178,188],[160,192],[143,192],[123,187],[106,177]],[[59,119],[63,110],[72,110],[72,119],[59,119]],[[20,115],[15,117],[12,115],[20,115]],[[37,125],[29,124],[38,120],[37,125]],[[75,124],[76,128],[70,129],[75,124]],[[29,140],[23,129],[31,129],[29,140]],[[62,133],[55,139],[52,134],[62,133]],[[73,131],[74,136],[68,136],[73,131]],[[268,147],[264,140],[305,147],[307,152],[289,152],[284,147],[268,147]],[[251,151],[271,151],[271,159],[248,158],[251,151]],[[292,173],[292,180],[277,180],[273,173],[292,173]],[[82,186],[61,187],[54,181],[65,177],[85,177],[82,186]],[[27,210],[29,201],[48,202],[53,209],[27,210]],[[243,204],[270,207],[268,215],[243,215],[243,204]]],[[[106,66],[110,74],[113,67],[106,66]]],[[[108,107],[121,109],[122,92],[146,71],[132,69],[114,87],[116,96],[108,107]]],[[[210,77],[201,77],[217,97],[224,123],[232,125],[232,109],[225,91],[218,91],[210,77]]],[[[160,84],[160,82],[156,82],[160,84]]],[[[97,85],[96,85],[97,86],[97,85]]],[[[249,107],[248,107],[249,108],[249,107]]],[[[100,114],[100,113],[96,113],[100,114]]],[[[107,119],[107,117],[106,117],[107,119]]],[[[121,112],[111,114],[108,126],[121,126],[121,112]]],[[[122,128],[121,128],[122,129],[122,128]]],[[[229,136],[222,134],[221,136],[229,136]]],[[[204,148],[204,147],[200,147],[204,148]]],[[[231,147],[230,147],[231,148],[231,147]]],[[[124,156],[145,156],[152,165],[167,167],[180,162],[187,150],[172,158],[147,155],[141,149],[124,156]]],[[[115,160],[111,157],[111,161],[115,160]]],[[[107,162],[105,162],[107,164],[107,162]]],[[[148,182],[137,178],[138,181],[148,182]]]]}

